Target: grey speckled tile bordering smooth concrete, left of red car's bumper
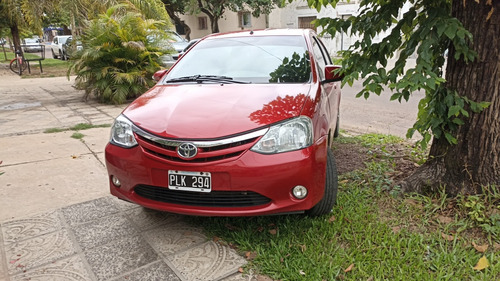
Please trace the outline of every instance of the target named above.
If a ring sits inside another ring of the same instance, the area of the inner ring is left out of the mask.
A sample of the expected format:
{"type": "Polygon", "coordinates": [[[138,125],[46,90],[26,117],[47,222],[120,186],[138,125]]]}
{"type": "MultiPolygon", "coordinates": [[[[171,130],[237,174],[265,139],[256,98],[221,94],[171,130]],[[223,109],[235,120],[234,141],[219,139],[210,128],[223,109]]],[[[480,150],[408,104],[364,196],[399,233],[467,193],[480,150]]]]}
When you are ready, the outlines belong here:
{"type": "Polygon", "coordinates": [[[102,197],[62,208],[62,213],[71,226],[90,222],[118,211],[109,197],[102,197]]]}

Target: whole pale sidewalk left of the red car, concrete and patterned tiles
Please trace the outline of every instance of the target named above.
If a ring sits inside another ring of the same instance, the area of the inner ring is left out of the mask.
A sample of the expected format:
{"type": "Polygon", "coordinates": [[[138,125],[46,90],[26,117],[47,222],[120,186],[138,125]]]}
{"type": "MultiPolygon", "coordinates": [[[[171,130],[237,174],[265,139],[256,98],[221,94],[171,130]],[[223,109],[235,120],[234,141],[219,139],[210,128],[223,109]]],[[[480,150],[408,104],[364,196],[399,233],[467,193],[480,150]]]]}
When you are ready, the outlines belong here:
{"type": "Polygon", "coordinates": [[[255,280],[246,260],[183,216],[109,195],[109,128],[124,106],[83,102],[66,77],[0,65],[0,280],[255,280]]]}

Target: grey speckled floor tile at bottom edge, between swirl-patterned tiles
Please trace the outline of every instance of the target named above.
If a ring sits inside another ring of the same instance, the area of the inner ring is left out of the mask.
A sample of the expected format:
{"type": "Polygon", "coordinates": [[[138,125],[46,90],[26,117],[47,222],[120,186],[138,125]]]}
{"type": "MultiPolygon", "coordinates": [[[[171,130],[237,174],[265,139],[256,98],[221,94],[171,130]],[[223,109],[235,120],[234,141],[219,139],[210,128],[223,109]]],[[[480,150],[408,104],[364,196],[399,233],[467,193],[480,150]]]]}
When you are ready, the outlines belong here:
{"type": "Polygon", "coordinates": [[[158,255],[139,236],[114,240],[84,252],[98,280],[107,280],[158,260],[158,255]]]}

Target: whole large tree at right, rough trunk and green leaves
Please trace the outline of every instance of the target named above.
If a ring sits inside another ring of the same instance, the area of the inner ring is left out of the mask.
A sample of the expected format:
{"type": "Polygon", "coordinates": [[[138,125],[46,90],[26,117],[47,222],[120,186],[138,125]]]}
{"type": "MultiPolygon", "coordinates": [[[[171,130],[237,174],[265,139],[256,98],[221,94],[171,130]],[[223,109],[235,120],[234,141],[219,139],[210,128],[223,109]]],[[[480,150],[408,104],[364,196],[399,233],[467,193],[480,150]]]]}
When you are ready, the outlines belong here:
{"type": "MultiPolygon", "coordinates": [[[[308,0],[317,9],[337,2],[308,0]]],[[[343,83],[363,81],[358,96],[380,95],[383,85],[400,102],[414,91],[425,92],[407,136],[418,131],[420,144],[432,140],[432,145],[427,162],[400,183],[401,190],[444,187],[457,195],[500,185],[500,1],[362,0],[359,5],[358,15],[316,23],[326,33],[360,38],[341,52],[343,83]],[[410,56],[416,57],[414,67],[406,65],[410,56]]]]}

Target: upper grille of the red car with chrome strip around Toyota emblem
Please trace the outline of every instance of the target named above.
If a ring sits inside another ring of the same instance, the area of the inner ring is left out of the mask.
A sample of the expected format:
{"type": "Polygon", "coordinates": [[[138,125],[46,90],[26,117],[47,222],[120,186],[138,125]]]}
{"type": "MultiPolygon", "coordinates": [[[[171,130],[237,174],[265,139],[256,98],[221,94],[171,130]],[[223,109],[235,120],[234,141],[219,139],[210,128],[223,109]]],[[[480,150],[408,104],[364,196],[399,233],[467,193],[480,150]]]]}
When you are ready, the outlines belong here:
{"type": "Polygon", "coordinates": [[[144,152],[156,158],[181,163],[208,163],[240,156],[250,149],[267,132],[267,129],[249,132],[219,140],[177,140],[166,139],[134,127],[137,143],[144,152]],[[181,158],[177,147],[183,143],[192,143],[198,148],[193,158],[181,158]]]}

